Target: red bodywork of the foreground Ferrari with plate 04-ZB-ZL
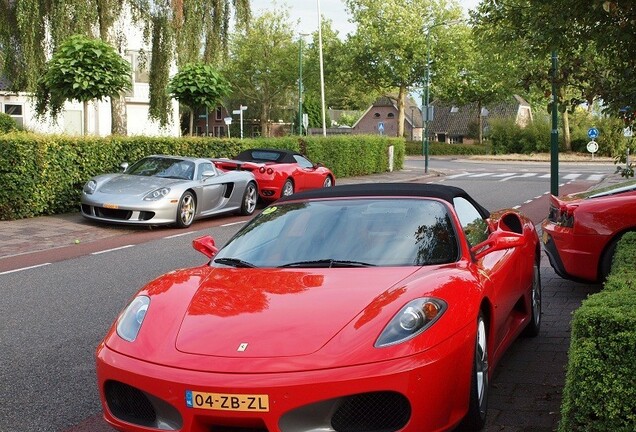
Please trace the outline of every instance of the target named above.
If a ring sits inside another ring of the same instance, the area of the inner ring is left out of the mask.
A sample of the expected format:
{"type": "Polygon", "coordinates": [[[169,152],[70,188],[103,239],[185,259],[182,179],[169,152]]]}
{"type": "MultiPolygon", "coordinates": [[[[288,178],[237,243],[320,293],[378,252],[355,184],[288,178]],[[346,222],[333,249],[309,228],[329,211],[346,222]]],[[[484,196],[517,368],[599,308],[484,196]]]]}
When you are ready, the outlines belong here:
{"type": "MultiPolygon", "coordinates": [[[[505,228],[498,217],[491,229],[505,228]]],[[[138,293],[151,306],[137,339],[120,338],[115,323],[97,349],[104,417],[122,431],[157,430],[113,414],[105,388],[116,381],[174,407],[182,431],[296,431],[298,418],[311,421],[367,392],[408,399],[402,431],[449,430],[468,409],[480,310],[489,320],[489,374],[530,320],[539,240],[531,221],[518,220],[521,246],[480,259],[462,239],[459,259],[441,265],[201,266],[161,276],[138,293]],[[408,341],[374,347],[396,311],[428,296],[449,305],[438,321],[408,341]],[[188,391],[266,394],[269,411],[189,408],[188,391]]]]}

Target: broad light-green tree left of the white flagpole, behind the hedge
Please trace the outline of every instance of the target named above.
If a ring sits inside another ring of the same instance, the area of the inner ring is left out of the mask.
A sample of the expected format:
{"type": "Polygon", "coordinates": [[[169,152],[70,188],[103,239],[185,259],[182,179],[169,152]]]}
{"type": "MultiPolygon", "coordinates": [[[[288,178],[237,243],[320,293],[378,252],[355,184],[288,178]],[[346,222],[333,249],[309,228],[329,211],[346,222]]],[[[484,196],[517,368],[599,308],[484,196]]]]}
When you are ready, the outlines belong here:
{"type": "MultiPolygon", "coordinates": [[[[275,107],[295,106],[298,79],[298,45],[285,11],[266,12],[236,33],[230,42],[225,75],[234,98],[253,106],[260,118],[263,136],[270,136],[275,107]]],[[[282,117],[281,117],[282,118],[282,117]]]]}

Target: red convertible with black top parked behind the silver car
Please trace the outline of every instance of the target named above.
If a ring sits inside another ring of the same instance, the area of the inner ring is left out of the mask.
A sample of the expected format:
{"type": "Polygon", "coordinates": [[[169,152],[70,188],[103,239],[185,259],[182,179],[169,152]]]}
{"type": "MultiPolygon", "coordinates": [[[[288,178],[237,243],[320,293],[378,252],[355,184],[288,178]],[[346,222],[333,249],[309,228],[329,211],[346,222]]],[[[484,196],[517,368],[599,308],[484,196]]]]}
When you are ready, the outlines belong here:
{"type": "Polygon", "coordinates": [[[222,170],[251,171],[265,201],[309,189],[331,187],[336,178],[330,169],[315,164],[300,153],[280,149],[250,149],[233,160],[214,159],[222,170]]]}

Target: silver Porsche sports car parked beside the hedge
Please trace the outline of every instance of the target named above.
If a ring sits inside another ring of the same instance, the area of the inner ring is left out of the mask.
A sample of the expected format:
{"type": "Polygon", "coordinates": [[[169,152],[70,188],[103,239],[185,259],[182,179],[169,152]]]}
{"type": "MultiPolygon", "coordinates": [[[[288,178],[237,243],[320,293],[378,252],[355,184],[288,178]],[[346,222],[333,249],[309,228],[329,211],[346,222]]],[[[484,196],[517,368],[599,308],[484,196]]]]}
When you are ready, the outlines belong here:
{"type": "Polygon", "coordinates": [[[153,155],[124,171],[90,179],[81,199],[89,219],[137,225],[175,224],[225,212],[251,215],[258,190],[247,171],[217,170],[210,159],[153,155]]]}

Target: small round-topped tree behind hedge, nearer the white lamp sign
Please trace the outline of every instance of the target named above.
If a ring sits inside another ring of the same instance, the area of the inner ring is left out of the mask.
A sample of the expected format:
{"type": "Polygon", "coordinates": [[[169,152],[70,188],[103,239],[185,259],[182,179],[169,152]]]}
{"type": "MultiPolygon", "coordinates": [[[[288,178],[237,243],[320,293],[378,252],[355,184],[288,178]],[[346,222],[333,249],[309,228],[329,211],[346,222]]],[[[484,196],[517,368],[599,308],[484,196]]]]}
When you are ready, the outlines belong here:
{"type": "Polygon", "coordinates": [[[230,92],[230,83],[210,65],[190,63],[170,80],[169,93],[190,108],[190,135],[197,108],[214,109],[230,92]]]}

